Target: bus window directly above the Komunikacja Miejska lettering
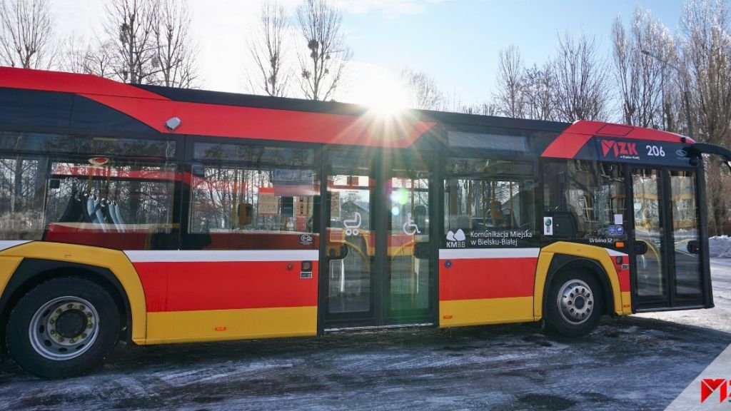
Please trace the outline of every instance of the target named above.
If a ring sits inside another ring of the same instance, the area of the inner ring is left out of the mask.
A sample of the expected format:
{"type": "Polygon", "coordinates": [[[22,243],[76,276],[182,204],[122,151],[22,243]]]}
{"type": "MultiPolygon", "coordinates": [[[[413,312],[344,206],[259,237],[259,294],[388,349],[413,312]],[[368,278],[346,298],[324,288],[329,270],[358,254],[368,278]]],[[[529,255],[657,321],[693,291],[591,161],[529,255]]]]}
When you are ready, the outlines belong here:
{"type": "Polygon", "coordinates": [[[446,174],[445,231],[534,230],[531,163],[450,159],[446,174]]]}

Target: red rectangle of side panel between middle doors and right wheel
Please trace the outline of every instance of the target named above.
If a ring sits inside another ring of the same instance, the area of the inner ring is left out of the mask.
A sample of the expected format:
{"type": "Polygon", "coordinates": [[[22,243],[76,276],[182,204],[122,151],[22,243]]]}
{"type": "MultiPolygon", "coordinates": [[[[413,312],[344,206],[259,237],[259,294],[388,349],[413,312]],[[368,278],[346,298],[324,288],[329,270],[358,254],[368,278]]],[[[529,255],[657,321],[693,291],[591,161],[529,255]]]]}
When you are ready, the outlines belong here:
{"type": "Polygon", "coordinates": [[[439,261],[439,300],[532,297],[537,258],[439,261]]]}

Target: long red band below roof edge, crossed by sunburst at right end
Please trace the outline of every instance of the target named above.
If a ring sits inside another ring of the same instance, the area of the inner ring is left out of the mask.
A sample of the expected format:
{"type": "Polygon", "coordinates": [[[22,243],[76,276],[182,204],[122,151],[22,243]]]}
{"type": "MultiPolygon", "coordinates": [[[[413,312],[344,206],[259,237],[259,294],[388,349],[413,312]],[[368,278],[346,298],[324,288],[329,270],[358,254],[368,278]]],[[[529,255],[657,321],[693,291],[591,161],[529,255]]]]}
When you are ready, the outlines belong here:
{"type": "Polygon", "coordinates": [[[170,133],[164,124],[175,116],[182,121],[175,134],[404,148],[436,124],[409,116],[379,120],[367,115],[344,116],[98,94],[83,96],[162,133],[170,133]]]}

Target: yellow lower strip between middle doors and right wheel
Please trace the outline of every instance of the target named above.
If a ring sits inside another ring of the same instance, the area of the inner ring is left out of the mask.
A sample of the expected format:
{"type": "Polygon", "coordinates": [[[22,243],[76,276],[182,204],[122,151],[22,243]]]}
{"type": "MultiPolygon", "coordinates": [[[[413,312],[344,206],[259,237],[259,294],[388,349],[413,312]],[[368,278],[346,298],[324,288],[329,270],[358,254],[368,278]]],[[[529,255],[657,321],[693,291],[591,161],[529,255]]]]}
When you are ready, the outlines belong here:
{"type": "Polygon", "coordinates": [[[533,321],[533,297],[439,301],[439,326],[533,321]]]}

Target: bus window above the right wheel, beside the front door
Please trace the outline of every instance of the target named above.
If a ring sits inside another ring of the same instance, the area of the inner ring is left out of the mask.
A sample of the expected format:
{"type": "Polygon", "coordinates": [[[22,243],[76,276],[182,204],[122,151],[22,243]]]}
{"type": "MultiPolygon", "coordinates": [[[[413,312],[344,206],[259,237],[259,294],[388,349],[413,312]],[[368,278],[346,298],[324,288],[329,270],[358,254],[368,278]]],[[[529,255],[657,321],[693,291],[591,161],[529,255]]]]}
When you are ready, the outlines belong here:
{"type": "Polygon", "coordinates": [[[624,174],[616,163],[569,160],[543,167],[545,216],[570,222],[555,237],[626,238],[624,174]],[[622,227],[617,230],[617,226],[622,227]]]}

